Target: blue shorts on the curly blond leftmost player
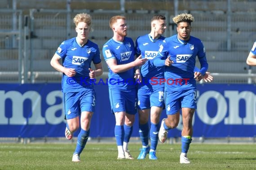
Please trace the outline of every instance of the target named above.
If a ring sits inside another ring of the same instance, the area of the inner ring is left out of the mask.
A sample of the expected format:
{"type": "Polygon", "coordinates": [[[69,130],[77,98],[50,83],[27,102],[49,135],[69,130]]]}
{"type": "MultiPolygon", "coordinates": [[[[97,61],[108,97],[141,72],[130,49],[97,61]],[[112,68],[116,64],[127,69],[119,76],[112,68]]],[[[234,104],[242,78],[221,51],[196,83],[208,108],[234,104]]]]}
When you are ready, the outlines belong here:
{"type": "Polygon", "coordinates": [[[83,111],[94,112],[96,95],[94,89],[63,93],[66,119],[73,119],[83,111]]]}

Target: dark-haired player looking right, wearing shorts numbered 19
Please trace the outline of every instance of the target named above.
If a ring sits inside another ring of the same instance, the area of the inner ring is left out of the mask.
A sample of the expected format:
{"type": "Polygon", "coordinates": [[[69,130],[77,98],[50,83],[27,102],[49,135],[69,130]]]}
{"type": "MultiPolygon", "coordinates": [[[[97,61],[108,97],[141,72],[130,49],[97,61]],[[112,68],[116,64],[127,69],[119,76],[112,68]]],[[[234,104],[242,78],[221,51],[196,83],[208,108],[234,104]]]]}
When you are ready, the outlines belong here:
{"type": "Polygon", "coordinates": [[[149,153],[149,159],[156,160],[155,150],[158,144],[158,132],[160,128],[160,115],[164,106],[164,83],[154,81],[164,79],[164,67],[155,67],[154,58],[158,53],[160,45],[163,43],[162,34],[166,29],[165,17],[154,15],[151,18],[151,32],[140,36],[136,40],[137,56],[148,59],[146,64],[141,66],[142,82],[138,84],[138,113],[139,113],[139,133],[142,142],[141,153],[137,159],[145,159],[149,153]],[[149,146],[149,124],[150,115],[150,142],[149,146]]]}

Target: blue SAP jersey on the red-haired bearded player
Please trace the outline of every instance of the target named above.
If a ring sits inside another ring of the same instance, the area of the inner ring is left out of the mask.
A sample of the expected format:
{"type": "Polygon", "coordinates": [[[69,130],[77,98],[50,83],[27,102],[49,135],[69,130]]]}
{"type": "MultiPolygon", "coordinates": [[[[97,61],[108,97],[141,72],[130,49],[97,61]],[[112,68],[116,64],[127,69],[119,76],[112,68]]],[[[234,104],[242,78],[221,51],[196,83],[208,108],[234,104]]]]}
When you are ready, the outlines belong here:
{"type": "MultiPolygon", "coordinates": [[[[106,61],[109,59],[116,59],[116,63],[118,65],[131,63],[134,61],[135,56],[133,40],[132,38],[125,37],[123,42],[119,42],[111,38],[104,44],[102,53],[106,61]]],[[[110,89],[136,88],[134,68],[119,73],[112,72],[109,68],[108,77],[108,85],[110,89]]]]}

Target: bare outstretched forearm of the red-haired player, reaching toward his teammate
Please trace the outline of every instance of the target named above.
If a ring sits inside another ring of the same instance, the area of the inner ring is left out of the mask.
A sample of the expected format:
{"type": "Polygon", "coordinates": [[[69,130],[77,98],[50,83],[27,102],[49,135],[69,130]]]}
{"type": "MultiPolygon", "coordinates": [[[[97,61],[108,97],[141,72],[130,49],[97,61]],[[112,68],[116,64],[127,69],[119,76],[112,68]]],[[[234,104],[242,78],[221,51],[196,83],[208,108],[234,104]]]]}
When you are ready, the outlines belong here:
{"type": "Polygon", "coordinates": [[[128,64],[117,64],[115,58],[111,58],[106,60],[106,64],[109,66],[109,68],[112,70],[114,73],[120,73],[120,72],[125,72],[131,68],[134,68],[136,66],[141,66],[145,64],[147,59],[142,59],[141,56],[137,57],[134,61],[128,63],[128,64]]]}

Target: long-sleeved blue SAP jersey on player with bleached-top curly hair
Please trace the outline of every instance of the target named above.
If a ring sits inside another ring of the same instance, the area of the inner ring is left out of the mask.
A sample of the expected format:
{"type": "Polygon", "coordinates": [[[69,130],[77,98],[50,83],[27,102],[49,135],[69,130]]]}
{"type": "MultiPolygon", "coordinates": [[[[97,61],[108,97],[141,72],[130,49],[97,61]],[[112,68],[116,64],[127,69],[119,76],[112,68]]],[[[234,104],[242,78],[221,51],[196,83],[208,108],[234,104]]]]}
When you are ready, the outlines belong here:
{"type": "Polygon", "coordinates": [[[159,60],[162,59],[163,63],[161,65],[164,65],[163,59],[167,59],[168,56],[174,63],[170,67],[165,67],[165,90],[196,89],[196,81],[194,79],[196,56],[199,58],[201,64],[200,72],[203,75],[208,68],[205,49],[201,40],[190,36],[189,41],[185,42],[178,39],[177,34],[165,38],[159,48],[154,64],[159,65],[159,60]]]}

